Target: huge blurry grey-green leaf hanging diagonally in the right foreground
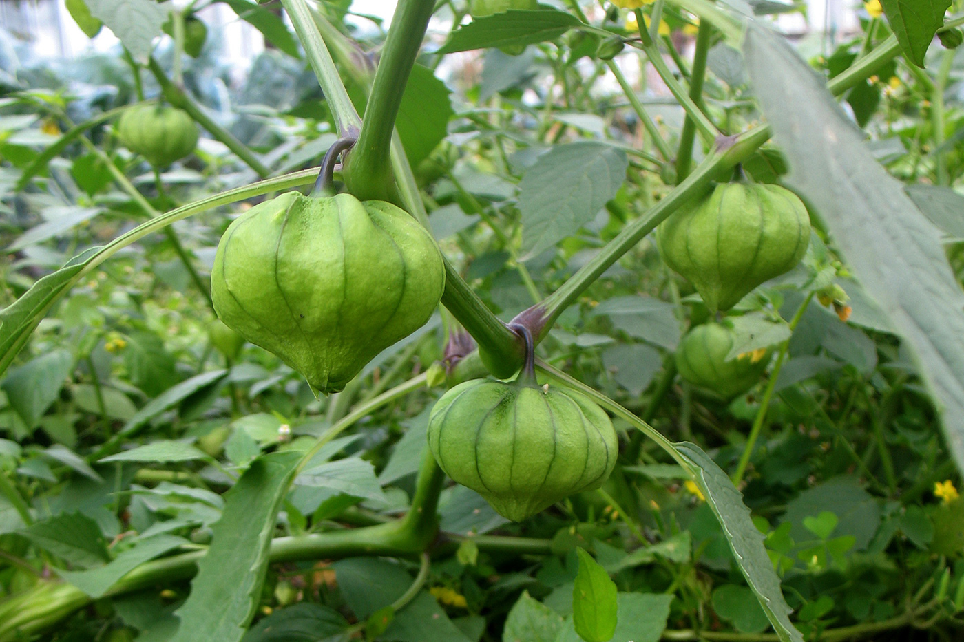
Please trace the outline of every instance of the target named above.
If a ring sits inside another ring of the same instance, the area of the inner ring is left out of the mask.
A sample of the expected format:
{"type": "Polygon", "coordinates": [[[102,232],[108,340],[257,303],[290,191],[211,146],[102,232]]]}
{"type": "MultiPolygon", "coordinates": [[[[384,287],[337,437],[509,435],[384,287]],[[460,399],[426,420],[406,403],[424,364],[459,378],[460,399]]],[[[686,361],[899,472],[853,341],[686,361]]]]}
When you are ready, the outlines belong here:
{"type": "Polygon", "coordinates": [[[964,292],[940,232],[877,164],[862,132],[790,45],[755,26],[745,47],[791,184],[813,203],[854,276],[911,348],[964,470],[964,292]]]}

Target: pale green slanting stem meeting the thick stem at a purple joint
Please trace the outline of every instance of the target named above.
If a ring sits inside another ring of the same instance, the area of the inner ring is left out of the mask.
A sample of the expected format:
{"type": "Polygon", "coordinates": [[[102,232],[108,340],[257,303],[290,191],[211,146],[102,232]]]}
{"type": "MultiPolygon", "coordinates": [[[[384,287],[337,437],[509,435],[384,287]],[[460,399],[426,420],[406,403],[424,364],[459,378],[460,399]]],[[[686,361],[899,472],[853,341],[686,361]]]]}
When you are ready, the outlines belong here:
{"type": "Polygon", "coordinates": [[[332,54],[318,31],[318,25],[308,9],[308,4],[305,0],[281,0],[281,6],[291,18],[295,34],[305,47],[308,62],[325,92],[325,101],[335,117],[335,127],[338,132],[346,134],[357,129],[362,125],[362,119],[359,118],[355,105],[348,97],[345,85],[341,82],[338,69],[335,67],[335,61],[332,60],[332,54]]]}

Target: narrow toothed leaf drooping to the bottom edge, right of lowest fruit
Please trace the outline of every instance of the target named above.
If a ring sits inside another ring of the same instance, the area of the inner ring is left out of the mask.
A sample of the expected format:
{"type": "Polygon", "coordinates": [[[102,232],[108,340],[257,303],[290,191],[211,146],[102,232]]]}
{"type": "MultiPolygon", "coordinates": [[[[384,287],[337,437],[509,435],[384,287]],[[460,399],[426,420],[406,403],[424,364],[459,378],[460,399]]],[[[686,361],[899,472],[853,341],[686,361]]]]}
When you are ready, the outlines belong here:
{"type": "Polygon", "coordinates": [[[792,609],[780,590],[780,579],[763,548],[763,533],[750,519],[750,509],[730,477],[699,446],[682,442],[674,444],[693,466],[700,491],[707,499],[713,515],[723,525],[723,532],[733,550],[736,564],[757,595],[766,619],[783,642],[803,642],[800,631],[790,623],[792,609]]]}

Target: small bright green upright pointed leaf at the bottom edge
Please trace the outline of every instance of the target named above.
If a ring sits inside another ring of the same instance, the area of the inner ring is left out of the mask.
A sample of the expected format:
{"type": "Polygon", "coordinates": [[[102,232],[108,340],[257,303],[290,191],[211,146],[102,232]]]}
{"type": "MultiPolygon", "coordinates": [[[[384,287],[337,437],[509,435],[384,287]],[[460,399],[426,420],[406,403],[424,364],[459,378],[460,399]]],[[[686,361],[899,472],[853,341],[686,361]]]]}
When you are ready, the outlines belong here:
{"type": "Polygon", "coordinates": [[[616,631],[616,583],[596,560],[576,548],[579,572],[573,587],[573,626],[586,642],[607,642],[616,631]]]}

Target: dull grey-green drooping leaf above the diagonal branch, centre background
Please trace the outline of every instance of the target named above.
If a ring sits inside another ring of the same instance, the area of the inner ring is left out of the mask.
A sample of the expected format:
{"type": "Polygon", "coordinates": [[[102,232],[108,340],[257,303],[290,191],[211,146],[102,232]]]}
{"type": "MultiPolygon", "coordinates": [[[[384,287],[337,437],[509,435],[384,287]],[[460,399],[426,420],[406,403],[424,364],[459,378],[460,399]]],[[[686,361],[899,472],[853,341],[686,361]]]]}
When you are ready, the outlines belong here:
{"type": "Polygon", "coordinates": [[[557,145],[540,156],[519,184],[522,259],[592,221],[616,196],[628,167],[625,151],[594,141],[557,145]]]}

